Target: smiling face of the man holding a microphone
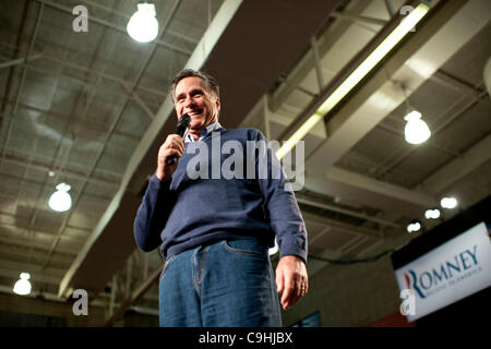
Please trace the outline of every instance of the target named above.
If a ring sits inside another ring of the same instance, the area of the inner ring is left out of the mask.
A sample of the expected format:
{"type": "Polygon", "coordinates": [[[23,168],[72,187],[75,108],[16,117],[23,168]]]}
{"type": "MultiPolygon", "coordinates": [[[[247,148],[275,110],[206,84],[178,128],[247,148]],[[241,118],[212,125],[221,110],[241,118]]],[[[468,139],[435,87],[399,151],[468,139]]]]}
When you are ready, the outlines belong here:
{"type": "Polygon", "coordinates": [[[176,86],[175,100],[178,119],[188,113],[191,117],[190,129],[193,131],[204,130],[218,120],[220,101],[206,89],[201,77],[182,79],[176,86]]]}

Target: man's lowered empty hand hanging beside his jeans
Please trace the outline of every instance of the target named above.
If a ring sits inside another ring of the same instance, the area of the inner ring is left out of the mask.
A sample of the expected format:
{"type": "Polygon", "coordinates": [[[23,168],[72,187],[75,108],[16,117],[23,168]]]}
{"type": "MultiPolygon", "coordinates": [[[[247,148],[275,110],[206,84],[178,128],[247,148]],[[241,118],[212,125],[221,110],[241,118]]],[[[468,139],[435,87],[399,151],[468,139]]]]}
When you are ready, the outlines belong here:
{"type": "Polygon", "coordinates": [[[276,289],[282,294],[284,310],[291,308],[309,290],[309,276],[302,260],[295,255],[283,256],[276,266],[276,289]]]}

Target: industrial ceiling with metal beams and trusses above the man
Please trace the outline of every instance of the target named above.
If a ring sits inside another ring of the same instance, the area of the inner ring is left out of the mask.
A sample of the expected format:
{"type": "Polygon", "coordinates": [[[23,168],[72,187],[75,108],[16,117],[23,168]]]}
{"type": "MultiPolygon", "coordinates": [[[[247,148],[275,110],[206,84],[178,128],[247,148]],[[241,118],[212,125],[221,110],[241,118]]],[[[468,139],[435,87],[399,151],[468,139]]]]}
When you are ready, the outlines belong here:
{"type": "MultiPolygon", "coordinates": [[[[184,67],[216,75],[220,123],[283,142],[402,20],[399,9],[418,3],[154,2],[160,27],[148,44],[125,32],[136,1],[0,2],[0,291],[12,292],[25,270],[33,294],[64,300],[83,288],[105,306],[156,314],[161,257],[136,249],[132,221],[176,125],[172,76],[184,67]],[[73,29],[77,4],[88,11],[87,32],[73,29]],[[48,206],[61,181],[72,188],[65,213],[48,206]]],[[[429,230],[491,193],[491,3],[430,5],[304,139],[296,194],[312,256],[400,248],[424,233],[408,234],[410,220],[429,230]],[[408,106],[432,132],[421,145],[404,140],[408,106]],[[447,195],[458,208],[424,219],[447,195]]],[[[310,275],[325,265],[310,260],[310,275]]]]}

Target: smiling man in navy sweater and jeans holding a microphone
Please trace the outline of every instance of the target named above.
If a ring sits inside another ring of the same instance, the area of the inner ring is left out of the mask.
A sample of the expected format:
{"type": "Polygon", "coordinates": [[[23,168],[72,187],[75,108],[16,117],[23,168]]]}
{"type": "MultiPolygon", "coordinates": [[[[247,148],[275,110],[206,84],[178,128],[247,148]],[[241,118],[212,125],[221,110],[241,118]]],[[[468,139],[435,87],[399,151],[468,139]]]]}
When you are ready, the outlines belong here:
{"type": "MultiPolygon", "coordinates": [[[[134,222],[137,245],[143,251],[160,245],[166,261],[160,326],[282,326],[279,303],[288,309],[308,290],[307,231],[292,191],[285,189],[285,173],[279,179],[191,179],[187,165],[194,155],[185,152],[191,143],[265,140],[258,130],[225,130],[218,123],[219,87],[211,75],[183,70],[171,94],[178,118],[191,117],[189,132],[184,140],[170,134],[160,146],[134,222]],[[172,155],[179,160],[169,166],[172,155]],[[280,251],[276,277],[268,256],[275,236],[280,251]]],[[[230,156],[204,148],[208,159],[218,156],[223,163],[230,156]]],[[[268,149],[268,168],[274,156],[268,149]]]]}

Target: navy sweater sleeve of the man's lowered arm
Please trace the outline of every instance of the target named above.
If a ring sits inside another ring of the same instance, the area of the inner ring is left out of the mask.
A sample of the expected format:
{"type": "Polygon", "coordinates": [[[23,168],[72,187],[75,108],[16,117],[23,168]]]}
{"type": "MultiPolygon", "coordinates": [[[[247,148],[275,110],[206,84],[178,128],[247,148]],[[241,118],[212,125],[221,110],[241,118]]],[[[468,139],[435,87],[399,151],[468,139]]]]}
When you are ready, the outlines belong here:
{"type": "MultiPolygon", "coordinates": [[[[258,141],[267,145],[260,131],[256,135],[258,141]]],[[[263,154],[256,157],[256,176],[259,176],[256,178],[264,196],[271,227],[277,237],[279,255],[280,257],[296,255],[307,264],[307,229],[291,185],[273,149],[265,146],[260,147],[260,152],[263,154]],[[261,171],[264,171],[264,168],[261,169],[262,166],[267,166],[265,179],[261,176],[261,171]]]]}

